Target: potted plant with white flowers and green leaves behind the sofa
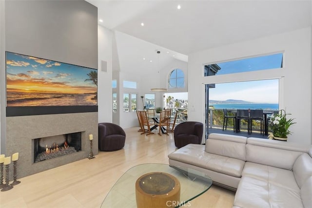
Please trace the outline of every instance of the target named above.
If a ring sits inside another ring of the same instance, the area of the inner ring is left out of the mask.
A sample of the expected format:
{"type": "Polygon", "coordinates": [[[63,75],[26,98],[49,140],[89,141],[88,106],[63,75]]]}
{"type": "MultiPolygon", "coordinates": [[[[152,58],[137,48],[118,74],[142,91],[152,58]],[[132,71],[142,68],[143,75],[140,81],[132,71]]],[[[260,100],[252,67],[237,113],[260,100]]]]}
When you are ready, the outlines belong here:
{"type": "Polygon", "coordinates": [[[287,141],[287,135],[291,134],[289,128],[292,124],[295,124],[293,118],[286,118],[287,115],[291,115],[291,113],[286,113],[285,110],[280,110],[278,113],[273,114],[269,124],[272,130],[269,133],[269,139],[287,141]]]}

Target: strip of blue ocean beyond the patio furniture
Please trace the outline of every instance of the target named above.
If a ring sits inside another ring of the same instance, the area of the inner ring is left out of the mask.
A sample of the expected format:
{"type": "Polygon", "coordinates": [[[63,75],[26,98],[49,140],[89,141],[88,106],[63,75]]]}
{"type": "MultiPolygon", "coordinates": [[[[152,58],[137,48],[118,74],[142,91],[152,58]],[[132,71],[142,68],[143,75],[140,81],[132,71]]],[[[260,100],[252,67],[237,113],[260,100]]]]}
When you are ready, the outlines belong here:
{"type": "Polygon", "coordinates": [[[272,103],[243,103],[243,104],[210,104],[215,109],[263,109],[263,110],[278,110],[278,104],[272,103]]]}

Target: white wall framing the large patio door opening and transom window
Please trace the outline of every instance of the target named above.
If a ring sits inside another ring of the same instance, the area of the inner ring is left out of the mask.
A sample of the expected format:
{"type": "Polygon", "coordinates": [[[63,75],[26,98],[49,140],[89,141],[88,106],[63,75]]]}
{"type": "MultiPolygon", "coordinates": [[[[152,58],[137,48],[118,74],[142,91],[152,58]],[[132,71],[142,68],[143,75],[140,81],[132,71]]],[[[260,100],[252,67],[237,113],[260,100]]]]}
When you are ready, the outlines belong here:
{"type": "Polygon", "coordinates": [[[204,84],[280,78],[280,109],[292,113],[289,141],[311,144],[311,27],[212,48],[189,55],[189,120],[204,122],[204,84]],[[203,66],[223,60],[284,52],[284,68],[232,75],[203,76],[203,66]]]}

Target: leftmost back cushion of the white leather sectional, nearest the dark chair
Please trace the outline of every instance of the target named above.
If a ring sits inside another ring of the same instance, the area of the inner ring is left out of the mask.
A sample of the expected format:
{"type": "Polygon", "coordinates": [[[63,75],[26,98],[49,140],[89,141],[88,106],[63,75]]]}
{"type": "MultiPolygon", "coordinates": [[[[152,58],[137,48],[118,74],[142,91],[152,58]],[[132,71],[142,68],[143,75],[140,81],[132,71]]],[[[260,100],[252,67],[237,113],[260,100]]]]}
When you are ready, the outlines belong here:
{"type": "Polygon", "coordinates": [[[205,151],[212,154],[246,161],[247,137],[211,133],[206,140],[205,151]]]}

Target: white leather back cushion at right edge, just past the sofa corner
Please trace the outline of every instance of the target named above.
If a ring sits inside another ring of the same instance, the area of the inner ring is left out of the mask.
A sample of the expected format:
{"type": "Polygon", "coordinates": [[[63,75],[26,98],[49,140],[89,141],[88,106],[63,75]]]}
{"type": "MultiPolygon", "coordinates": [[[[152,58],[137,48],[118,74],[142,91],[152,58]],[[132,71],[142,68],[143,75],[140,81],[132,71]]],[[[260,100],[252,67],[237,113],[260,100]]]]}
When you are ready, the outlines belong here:
{"type": "Polygon", "coordinates": [[[298,186],[301,188],[307,178],[312,176],[311,156],[307,153],[302,153],[294,162],[292,171],[298,186]]]}

